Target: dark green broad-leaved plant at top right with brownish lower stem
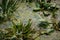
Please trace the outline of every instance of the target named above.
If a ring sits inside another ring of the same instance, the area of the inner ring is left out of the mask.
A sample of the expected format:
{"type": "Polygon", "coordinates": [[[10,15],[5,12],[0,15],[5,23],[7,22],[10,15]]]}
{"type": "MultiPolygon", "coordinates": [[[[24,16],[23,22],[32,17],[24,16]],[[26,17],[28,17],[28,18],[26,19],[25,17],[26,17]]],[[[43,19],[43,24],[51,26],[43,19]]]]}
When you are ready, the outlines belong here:
{"type": "MultiPolygon", "coordinates": [[[[33,9],[34,12],[42,11],[44,17],[48,17],[49,15],[52,15],[51,21],[52,26],[54,29],[57,29],[57,18],[56,18],[56,12],[59,9],[55,3],[51,3],[51,0],[40,0],[36,2],[36,9],[33,9]],[[45,11],[50,12],[49,14],[46,14],[45,11]]],[[[48,24],[47,24],[48,25],[48,24]]]]}

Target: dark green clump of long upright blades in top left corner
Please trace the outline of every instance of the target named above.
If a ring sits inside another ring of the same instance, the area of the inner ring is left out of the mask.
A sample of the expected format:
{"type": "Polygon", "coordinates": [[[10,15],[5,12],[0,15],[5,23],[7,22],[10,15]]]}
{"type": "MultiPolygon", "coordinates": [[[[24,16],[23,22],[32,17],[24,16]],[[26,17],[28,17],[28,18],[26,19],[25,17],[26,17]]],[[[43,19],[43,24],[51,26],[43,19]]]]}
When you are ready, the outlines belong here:
{"type": "Polygon", "coordinates": [[[0,4],[1,7],[1,14],[0,16],[0,23],[1,21],[10,20],[13,13],[18,9],[20,6],[20,0],[2,0],[2,3],[0,4]]]}

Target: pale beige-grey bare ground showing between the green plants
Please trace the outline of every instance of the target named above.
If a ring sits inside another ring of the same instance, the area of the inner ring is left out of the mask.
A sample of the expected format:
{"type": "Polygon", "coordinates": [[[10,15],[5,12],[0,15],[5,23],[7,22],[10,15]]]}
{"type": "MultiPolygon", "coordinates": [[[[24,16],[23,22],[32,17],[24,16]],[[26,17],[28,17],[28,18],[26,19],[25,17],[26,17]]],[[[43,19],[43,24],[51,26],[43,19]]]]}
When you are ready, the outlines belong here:
{"type": "MultiPolygon", "coordinates": [[[[57,0],[56,3],[60,6],[60,0],[57,0]]],[[[32,3],[31,5],[28,5],[27,3],[21,3],[20,7],[18,8],[18,10],[15,12],[15,18],[18,20],[17,22],[19,22],[20,20],[24,23],[26,23],[29,19],[32,19],[33,22],[33,27],[36,27],[37,23],[40,20],[46,20],[46,19],[42,19],[42,17],[40,16],[40,12],[33,12],[32,10],[35,8],[34,3],[32,3]]],[[[58,20],[60,20],[60,12],[58,12],[58,20]]],[[[15,21],[16,23],[16,21],[15,21]]],[[[7,21],[3,24],[0,24],[0,28],[7,28],[12,26],[12,23],[10,21],[7,21]]],[[[42,35],[40,36],[41,40],[60,40],[60,32],[54,32],[51,35],[42,35]]]]}

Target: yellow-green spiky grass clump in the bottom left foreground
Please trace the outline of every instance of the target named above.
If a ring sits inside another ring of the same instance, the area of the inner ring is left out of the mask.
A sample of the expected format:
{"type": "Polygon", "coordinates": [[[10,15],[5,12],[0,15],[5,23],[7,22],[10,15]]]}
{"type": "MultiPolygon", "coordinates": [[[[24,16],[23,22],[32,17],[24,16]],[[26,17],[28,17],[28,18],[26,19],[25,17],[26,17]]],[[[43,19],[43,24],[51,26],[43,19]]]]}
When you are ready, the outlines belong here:
{"type": "Polygon", "coordinates": [[[31,29],[31,20],[27,24],[14,24],[11,28],[1,29],[0,30],[0,39],[1,40],[33,40],[32,34],[34,30],[31,29]]]}

